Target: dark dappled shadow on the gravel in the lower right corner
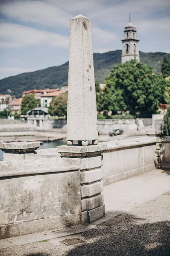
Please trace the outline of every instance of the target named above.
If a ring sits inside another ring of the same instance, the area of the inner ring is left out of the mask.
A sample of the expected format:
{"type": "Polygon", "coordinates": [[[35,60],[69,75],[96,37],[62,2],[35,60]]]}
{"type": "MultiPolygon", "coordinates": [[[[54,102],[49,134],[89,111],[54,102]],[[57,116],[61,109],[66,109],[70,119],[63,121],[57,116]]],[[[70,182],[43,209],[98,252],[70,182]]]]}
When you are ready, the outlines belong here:
{"type": "Polygon", "coordinates": [[[124,213],[82,236],[85,243],[71,249],[67,256],[170,256],[168,221],[148,223],[124,213]]]}

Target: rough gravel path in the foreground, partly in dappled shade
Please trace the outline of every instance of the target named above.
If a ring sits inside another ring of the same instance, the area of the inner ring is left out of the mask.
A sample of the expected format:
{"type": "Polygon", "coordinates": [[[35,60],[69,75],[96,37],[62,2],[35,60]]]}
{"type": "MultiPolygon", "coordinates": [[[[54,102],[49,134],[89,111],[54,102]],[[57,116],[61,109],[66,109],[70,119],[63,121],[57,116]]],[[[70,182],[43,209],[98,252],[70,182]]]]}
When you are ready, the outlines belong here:
{"type": "MultiPolygon", "coordinates": [[[[51,239],[0,250],[0,256],[170,256],[170,192],[81,233],[80,244],[51,239]]],[[[67,238],[68,239],[68,238],[67,238]]]]}

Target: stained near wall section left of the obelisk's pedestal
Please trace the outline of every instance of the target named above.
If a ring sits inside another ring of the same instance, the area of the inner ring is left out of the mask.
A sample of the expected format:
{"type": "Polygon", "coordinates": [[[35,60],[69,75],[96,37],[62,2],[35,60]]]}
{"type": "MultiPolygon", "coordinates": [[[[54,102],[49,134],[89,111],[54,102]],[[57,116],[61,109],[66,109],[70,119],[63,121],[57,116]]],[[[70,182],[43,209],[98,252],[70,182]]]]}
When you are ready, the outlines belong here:
{"type": "Polygon", "coordinates": [[[81,222],[79,166],[30,156],[0,163],[0,239],[81,222]]]}

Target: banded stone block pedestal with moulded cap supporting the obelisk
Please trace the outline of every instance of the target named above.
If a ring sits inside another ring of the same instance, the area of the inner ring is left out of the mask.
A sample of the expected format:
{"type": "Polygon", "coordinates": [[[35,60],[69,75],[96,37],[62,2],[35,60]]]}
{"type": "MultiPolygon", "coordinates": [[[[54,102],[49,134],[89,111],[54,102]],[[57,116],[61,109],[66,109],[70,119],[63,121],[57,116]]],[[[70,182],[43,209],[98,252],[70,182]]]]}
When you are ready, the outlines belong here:
{"type": "Polygon", "coordinates": [[[81,222],[92,222],[105,215],[103,204],[102,153],[105,145],[63,145],[57,147],[63,163],[77,164],[81,171],[81,222]]]}

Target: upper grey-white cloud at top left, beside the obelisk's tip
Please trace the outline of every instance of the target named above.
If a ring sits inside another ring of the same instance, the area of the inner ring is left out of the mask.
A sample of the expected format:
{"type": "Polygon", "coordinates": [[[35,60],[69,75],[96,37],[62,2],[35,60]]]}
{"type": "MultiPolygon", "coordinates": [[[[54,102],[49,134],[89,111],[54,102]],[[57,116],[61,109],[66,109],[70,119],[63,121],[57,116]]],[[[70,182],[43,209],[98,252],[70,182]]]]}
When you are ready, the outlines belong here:
{"type": "Polygon", "coordinates": [[[69,27],[70,15],[58,6],[38,0],[6,2],[0,6],[3,15],[23,22],[52,27],[69,27]]]}

